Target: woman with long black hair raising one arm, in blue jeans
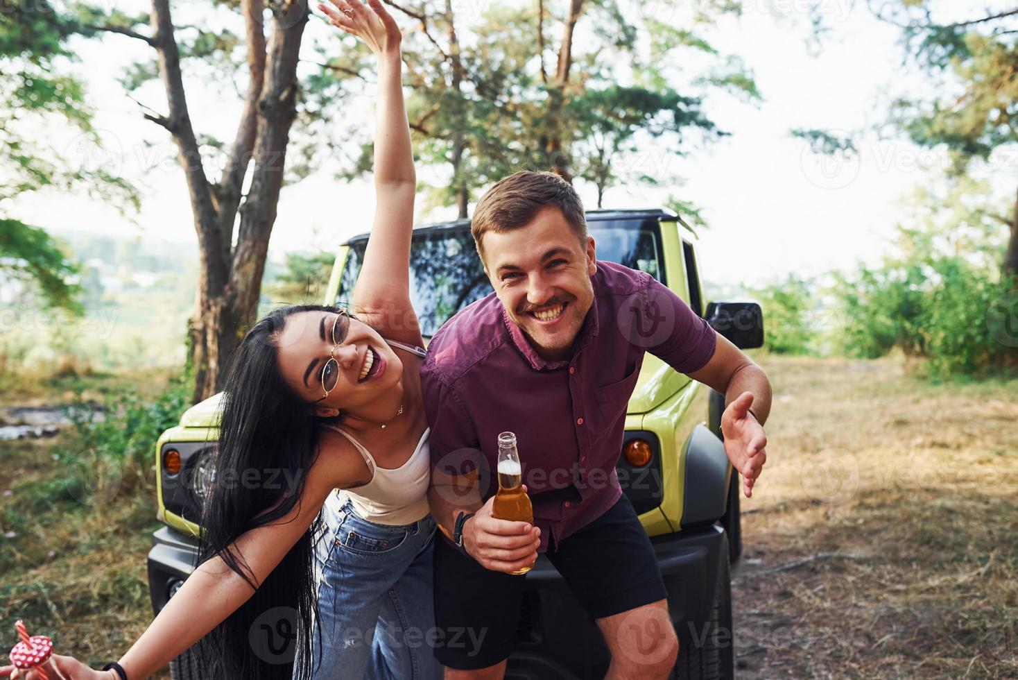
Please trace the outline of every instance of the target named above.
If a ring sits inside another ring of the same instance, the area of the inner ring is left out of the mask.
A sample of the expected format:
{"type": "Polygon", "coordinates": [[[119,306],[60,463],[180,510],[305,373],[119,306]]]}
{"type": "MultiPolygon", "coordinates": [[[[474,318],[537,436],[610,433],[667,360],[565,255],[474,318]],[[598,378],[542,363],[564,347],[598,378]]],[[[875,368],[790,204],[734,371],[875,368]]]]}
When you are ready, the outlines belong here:
{"type": "MultiPolygon", "coordinates": [[[[409,302],[416,178],[401,36],[380,0],[331,2],[320,8],[372,49],[379,68],[377,205],[351,300],[357,316],[283,307],[243,339],[224,386],[217,478],[297,481],[283,491],[257,481],[215,486],[201,564],[120,658],[129,680],[195,643],[212,678],[441,677],[422,642],[434,625],[435,522],[422,340],[409,302]],[[292,664],[260,636],[280,612],[297,620],[292,664]]],[[[64,656],[47,670],[50,678],[120,677],[64,656]]],[[[0,676],[38,674],[8,666],[0,676]]]]}

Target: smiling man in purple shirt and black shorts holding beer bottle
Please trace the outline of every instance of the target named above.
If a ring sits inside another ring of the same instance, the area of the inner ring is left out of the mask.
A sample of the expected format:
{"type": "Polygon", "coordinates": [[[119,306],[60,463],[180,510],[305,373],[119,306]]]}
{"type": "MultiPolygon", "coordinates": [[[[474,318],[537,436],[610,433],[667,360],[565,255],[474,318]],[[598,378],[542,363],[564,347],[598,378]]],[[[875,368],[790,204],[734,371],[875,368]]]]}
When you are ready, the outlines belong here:
{"type": "Polygon", "coordinates": [[[678,653],[671,625],[651,648],[627,637],[633,622],[667,620],[668,603],[615,474],[626,404],[644,351],[724,393],[725,448],[748,497],[767,458],[767,376],[653,277],[598,262],[579,196],[557,175],[501,180],[471,229],[495,293],[435,335],[421,386],[429,501],[448,537],[435,545],[436,624],[445,640],[467,630],[476,643],[436,657],[446,678],[502,678],[523,585],[510,572],[545,552],[601,628],[608,677],[665,678],[678,653]],[[492,516],[504,431],[517,437],[532,526],[492,516]]]}

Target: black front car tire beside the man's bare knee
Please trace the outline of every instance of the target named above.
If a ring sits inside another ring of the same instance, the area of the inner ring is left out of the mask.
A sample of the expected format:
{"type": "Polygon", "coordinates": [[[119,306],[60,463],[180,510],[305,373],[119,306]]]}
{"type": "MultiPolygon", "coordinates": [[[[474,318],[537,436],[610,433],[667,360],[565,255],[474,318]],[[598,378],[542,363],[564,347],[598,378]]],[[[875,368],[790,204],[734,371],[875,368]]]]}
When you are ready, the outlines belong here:
{"type": "Polygon", "coordinates": [[[678,680],[732,680],[735,677],[732,630],[732,579],[728,560],[721,559],[711,617],[701,644],[679,646],[672,678],[678,680]]]}

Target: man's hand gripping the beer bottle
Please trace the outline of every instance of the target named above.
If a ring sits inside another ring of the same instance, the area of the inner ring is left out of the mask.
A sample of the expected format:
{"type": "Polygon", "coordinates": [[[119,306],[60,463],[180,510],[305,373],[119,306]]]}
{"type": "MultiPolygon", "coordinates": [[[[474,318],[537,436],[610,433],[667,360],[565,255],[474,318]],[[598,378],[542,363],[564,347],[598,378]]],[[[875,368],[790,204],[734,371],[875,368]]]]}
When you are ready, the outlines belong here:
{"type": "Polygon", "coordinates": [[[492,571],[511,573],[530,566],[538,559],[541,529],[527,522],[496,519],[492,516],[494,504],[493,496],[463,524],[467,555],[492,571]]]}

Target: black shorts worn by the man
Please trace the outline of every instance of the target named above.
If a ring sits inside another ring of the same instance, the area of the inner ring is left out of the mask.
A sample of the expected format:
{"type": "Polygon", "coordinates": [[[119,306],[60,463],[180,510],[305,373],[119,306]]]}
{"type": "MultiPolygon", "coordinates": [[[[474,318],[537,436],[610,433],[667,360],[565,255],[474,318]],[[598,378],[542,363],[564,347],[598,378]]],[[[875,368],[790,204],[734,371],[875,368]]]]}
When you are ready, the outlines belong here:
{"type": "MultiPolygon", "coordinates": [[[[668,597],[651,540],[625,494],[547,555],[591,619],[668,597]]],[[[435,657],[443,666],[488,668],[509,658],[525,578],[486,569],[444,535],[436,537],[435,624],[444,643],[435,645],[435,657]]]]}

